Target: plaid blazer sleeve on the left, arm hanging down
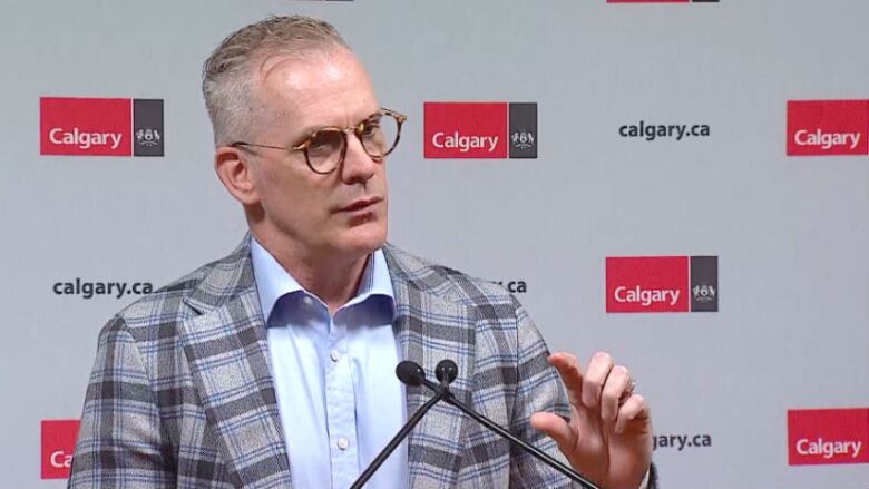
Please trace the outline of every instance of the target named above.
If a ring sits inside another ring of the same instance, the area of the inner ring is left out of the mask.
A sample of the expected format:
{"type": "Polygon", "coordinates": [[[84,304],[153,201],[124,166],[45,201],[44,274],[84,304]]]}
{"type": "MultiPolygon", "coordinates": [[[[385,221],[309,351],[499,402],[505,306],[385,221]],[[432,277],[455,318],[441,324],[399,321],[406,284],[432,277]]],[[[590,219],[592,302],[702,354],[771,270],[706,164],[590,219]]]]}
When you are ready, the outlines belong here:
{"type": "Polygon", "coordinates": [[[141,354],[116,316],[99,334],[68,488],[175,487],[170,453],[141,354]]]}

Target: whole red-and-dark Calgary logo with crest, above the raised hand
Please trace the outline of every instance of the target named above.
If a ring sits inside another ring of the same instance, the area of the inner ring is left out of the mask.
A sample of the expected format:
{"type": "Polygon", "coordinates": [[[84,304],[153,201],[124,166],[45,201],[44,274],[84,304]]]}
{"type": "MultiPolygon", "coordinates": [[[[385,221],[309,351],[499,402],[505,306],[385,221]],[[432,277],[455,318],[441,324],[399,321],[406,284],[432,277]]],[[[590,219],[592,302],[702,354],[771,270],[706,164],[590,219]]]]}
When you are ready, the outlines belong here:
{"type": "Polygon", "coordinates": [[[717,256],[606,258],[606,312],[715,312],[717,256]]]}

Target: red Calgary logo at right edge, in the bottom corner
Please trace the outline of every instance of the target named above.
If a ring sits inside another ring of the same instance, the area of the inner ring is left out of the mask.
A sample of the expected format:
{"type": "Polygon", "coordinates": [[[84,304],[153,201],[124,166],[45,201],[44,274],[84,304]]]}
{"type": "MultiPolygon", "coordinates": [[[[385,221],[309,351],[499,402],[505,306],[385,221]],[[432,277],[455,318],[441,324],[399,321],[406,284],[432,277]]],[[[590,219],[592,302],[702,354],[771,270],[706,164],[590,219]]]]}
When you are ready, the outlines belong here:
{"type": "Polygon", "coordinates": [[[788,463],[869,463],[869,409],[788,411],[788,463]]]}

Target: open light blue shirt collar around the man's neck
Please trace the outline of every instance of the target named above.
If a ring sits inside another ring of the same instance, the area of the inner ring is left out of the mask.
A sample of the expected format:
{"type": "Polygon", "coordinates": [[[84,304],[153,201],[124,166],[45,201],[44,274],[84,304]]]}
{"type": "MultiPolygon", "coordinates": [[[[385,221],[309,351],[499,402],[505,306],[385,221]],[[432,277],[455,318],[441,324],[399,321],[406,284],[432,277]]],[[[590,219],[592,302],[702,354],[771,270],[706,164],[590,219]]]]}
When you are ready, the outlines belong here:
{"type": "MultiPolygon", "coordinates": [[[[277,300],[286,294],[303,292],[312,297],[316,295],[304,290],[299,282],[290,275],[277,260],[263,247],[253,236],[251,236],[251,261],[253,262],[254,281],[260,296],[260,307],[263,311],[265,323],[268,324],[268,317],[274,310],[277,300]]],[[[384,296],[389,299],[392,314],[394,317],[396,295],[392,290],[392,280],[387,266],[387,257],[383,250],[377,250],[369,255],[365,271],[362,280],[359,282],[357,294],[344,305],[348,307],[362,303],[372,296],[384,296]]],[[[319,299],[319,297],[318,297],[319,299]]]]}

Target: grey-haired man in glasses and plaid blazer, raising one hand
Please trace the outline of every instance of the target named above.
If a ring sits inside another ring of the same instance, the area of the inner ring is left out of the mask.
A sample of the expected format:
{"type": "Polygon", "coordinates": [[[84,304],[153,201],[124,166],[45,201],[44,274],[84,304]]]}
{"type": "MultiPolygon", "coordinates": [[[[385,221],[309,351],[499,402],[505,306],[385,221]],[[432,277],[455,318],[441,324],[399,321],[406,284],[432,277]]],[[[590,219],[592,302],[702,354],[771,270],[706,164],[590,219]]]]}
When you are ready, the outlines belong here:
{"type": "MultiPolygon", "coordinates": [[[[548,356],[501,287],[385,244],[385,157],[404,117],[380,107],[331,26],[241,29],[206,61],[203,91],[215,170],[250,235],[102,329],[70,487],[344,489],[429,397],[393,375],[404,359],[456,361],[460,400],[602,487],[654,486],[627,369],[548,356]]],[[[439,404],[369,487],[569,482],[439,404]]]]}

